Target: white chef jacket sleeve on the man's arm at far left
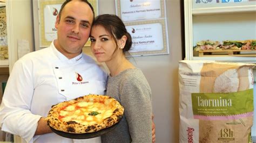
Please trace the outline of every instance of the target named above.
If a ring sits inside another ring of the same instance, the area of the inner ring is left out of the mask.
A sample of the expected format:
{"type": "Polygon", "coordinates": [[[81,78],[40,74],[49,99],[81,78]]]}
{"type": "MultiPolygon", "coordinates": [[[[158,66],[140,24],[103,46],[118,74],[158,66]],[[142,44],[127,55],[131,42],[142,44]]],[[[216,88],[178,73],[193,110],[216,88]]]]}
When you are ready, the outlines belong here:
{"type": "Polygon", "coordinates": [[[33,97],[31,63],[17,61],[8,79],[0,109],[2,131],[31,141],[41,118],[30,111],[33,97]],[[31,68],[30,68],[31,67],[31,68]]]}

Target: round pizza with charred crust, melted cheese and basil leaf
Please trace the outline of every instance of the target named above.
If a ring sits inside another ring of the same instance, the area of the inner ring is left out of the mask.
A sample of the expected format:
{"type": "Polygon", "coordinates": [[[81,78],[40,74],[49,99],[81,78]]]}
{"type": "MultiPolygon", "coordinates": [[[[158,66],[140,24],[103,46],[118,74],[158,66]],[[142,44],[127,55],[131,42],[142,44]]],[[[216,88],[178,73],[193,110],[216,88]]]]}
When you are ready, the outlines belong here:
{"type": "Polygon", "coordinates": [[[123,106],[105,95],[86,95],[53,105],[45,118],[55,130],[92,133],[110,127],[124,114],[123,106]]]}

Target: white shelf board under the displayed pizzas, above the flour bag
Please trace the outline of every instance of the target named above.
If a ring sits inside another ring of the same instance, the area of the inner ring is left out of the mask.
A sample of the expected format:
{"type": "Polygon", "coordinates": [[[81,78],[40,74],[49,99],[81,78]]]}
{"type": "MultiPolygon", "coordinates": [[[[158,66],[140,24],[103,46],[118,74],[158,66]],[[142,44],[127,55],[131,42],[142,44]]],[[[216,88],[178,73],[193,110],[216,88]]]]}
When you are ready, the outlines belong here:
{"type": "Polygon", "coordinates": [[[213,60],[213,61],[227,61],[227,62],[246,62],[256,63],[256,57],[240,57],[240,56],[193,56],[193,60],[213,60]]]}

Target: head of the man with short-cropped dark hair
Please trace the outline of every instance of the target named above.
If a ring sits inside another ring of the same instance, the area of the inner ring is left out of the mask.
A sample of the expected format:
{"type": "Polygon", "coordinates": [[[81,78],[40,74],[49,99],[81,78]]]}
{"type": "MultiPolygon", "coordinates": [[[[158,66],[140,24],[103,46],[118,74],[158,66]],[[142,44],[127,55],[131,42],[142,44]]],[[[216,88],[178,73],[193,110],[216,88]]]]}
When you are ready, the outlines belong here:
{"type": "Polygon", "coordinates": [[[85,2],[66,4],[55,23],[58,38],[54,44],[58,51],[69,59],[79,55],[89,38],[92,20],[92,10],[85,2]]]}

